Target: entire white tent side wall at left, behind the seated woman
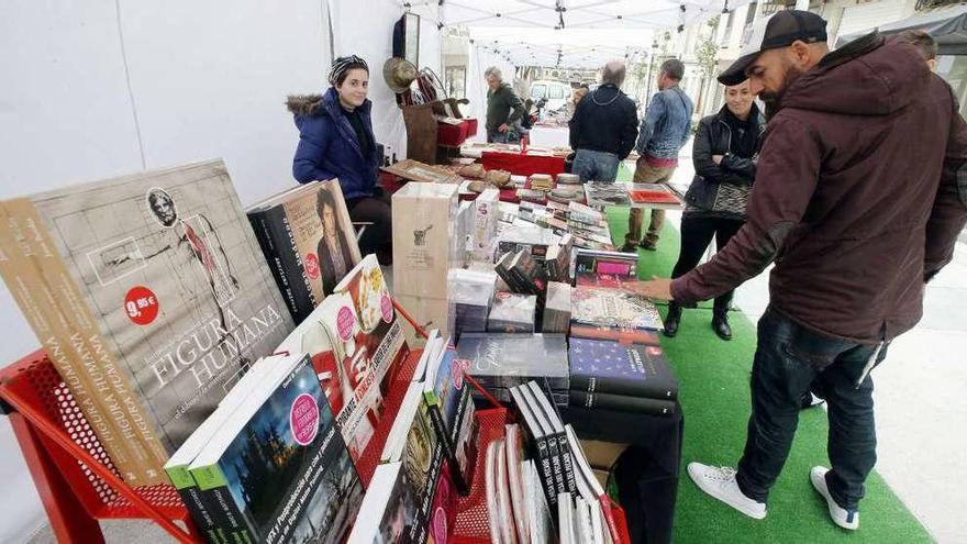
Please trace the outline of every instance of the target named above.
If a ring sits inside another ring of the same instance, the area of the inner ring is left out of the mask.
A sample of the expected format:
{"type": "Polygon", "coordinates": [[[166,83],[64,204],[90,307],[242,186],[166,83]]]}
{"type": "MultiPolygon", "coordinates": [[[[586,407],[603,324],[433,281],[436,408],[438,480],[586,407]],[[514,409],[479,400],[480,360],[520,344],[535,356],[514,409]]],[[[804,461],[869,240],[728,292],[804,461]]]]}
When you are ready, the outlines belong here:
{"type": "MultiPolygon", "coordinates": [[[[329,1],[335,53],[369,63],[377,140],[402,157],[402,115],[382,80],[402,9],[329,1]]],[[[284,102],[329,87],[325,4],[0,3],[0,198],[211,157],[225,159],[245,203],[294,184],[298,131],[284,102]]],[[[440,73],[436,8],[422,10],[421,65],[440,73]]],[[[0,365],[38,345],[2,285],[0,331],[0,365]]],[[[0,542],[20,542],[44,512],[5,422],[0,458],[0,542]]]]}

